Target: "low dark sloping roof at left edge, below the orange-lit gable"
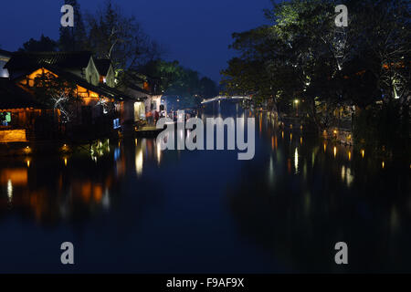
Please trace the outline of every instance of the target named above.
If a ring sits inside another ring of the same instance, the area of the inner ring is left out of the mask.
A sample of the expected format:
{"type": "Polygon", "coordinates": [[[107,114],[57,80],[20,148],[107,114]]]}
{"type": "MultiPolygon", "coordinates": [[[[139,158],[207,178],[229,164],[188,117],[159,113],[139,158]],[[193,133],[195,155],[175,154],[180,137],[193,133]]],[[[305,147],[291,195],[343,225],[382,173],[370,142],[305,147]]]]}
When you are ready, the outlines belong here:
{"type": "Polygon", "coordinates": [[[31,94],[18,87],[9,78],[0,78],[0,110],[26,109],[43,107],[31,94]]]}

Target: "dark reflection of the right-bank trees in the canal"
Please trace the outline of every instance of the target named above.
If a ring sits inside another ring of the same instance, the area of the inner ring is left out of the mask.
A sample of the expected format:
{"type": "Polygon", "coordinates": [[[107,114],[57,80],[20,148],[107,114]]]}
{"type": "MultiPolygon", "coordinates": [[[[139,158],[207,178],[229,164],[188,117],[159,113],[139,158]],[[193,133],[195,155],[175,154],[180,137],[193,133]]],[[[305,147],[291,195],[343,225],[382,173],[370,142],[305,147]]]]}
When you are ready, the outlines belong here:
{"type": "Polygon", "coordinates": [[[377,162],[339,161],[307,145],[299,147],[305,171],[292,175],[288,164],[294,150],[280,145],[271,164],[253,162],[228,189],[229,206],[247,241],[264,248],[285,271],[342,271],[333,262],[339,241],[349,245],[350,272],[409,271],[406,170],[381,172],[377,162]],[[355,175],[350,188],[340,179],[346,168],[355,175]]]}

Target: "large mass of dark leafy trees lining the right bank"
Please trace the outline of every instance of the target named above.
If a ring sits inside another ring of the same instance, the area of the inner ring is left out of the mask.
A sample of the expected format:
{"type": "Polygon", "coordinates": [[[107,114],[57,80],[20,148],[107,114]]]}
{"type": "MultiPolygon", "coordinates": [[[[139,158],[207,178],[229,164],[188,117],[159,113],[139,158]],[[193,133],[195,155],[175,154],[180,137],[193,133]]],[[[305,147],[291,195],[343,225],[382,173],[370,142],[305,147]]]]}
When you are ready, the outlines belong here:
{"type": "Polygon", "coordinates": [[[233,35],[239,56],[222,72],[226,90],[274,99],[278,110],[300,99],[320,131],[340,122],[336,110],[355,106],[356,141],[386,146],[394,136],[379,129],[389,127],[409,141],[409,1],[348,0],[348,27],[334,24],[337,4],[272,1],[270,26],[233,35]]]}

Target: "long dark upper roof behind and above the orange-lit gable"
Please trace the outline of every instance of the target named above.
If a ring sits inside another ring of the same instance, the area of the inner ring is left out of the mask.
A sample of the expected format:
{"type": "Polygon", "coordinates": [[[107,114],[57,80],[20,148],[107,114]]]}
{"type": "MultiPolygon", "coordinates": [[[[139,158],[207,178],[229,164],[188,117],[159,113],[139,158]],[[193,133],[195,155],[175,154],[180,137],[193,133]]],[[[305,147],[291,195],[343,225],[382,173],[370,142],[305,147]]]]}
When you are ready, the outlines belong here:
{"type": "Polygon", "coordinates": [[[57,66],[58,68],[86,68],[89,65],[91,52],[40,52],[12,54],[5,68],[10,70],[57,66]]]}

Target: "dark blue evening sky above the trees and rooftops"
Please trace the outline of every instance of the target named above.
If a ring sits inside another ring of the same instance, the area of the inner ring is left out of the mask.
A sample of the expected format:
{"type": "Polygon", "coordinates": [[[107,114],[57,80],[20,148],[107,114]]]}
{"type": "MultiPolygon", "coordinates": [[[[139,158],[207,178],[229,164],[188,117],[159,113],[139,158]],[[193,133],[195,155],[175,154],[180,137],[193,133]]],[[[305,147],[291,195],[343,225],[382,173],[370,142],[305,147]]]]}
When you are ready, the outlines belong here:
{"type": "MultiPolygon", "coordinates": [[[[64,1],[15,0],[1,5],[0,47],[16,50],[30,37],[58,37],[60,7],[64,1]]],[[[231,34],[265,24],[262,10],[269,0],[113,0],[134,15],[144,30],[177,59],[219,81],[219,71],[234,56],[228,49],[231,34]]],[[[104,0],[79,0],[92,12],[104,0]]]]}

